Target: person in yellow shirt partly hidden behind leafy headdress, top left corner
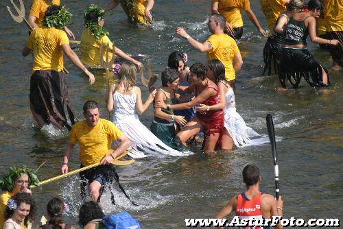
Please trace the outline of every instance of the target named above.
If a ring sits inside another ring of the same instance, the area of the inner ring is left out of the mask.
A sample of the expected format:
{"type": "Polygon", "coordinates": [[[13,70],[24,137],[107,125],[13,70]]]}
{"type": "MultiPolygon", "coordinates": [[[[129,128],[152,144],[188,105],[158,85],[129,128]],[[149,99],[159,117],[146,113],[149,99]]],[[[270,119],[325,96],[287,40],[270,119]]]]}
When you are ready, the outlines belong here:
{"type": "MultiPolygon", "coordinates": [[[[33,0],[29,8],[27,21],[32,29],[43,27],[45,12],[50,5],[60,5],[60,0],[33,0]]],[[[67,26],[64,25],[65,32],[75,40],[75,36],[67,26]]]]}

